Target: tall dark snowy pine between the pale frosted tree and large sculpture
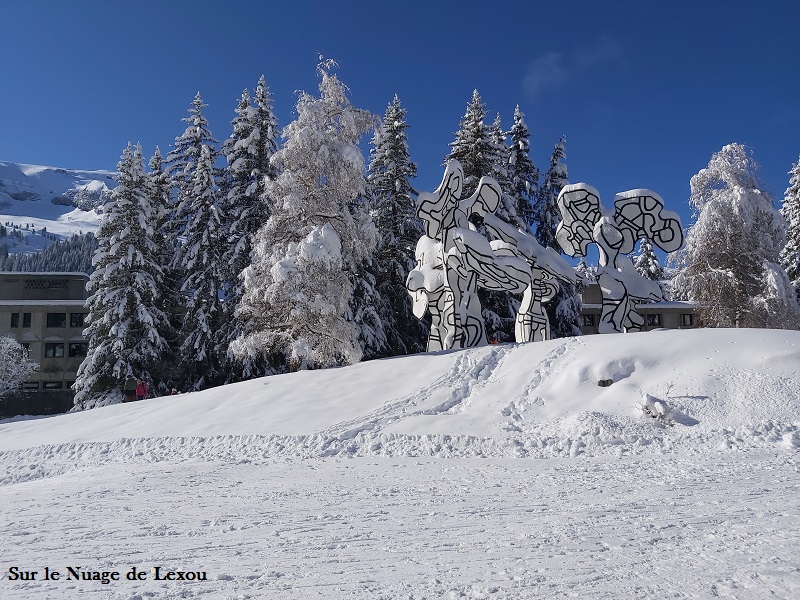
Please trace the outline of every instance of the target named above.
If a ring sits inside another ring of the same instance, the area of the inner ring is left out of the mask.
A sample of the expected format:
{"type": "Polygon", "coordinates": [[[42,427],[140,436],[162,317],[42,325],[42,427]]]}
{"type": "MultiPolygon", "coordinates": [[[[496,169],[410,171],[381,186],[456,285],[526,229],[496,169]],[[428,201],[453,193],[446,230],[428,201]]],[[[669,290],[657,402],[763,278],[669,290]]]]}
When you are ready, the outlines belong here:
{"type": "MultiPolygon", "coordinates": [[[[427,327],[414,316],[405,287],[416,264],[417,241],[424,234],[416,214],[417,192],[411,186],[417,166],[408,152],[408,128],[406,110],[395,96],[375,130],[367,174],[371,214],[378,230],[370,270],[381,301],[379,316],[394,356],[424,351],[428,338],[427,327]]],[[[365,357],[369,357],[369,345],[364,342],[362,339],[365,357]]]]}

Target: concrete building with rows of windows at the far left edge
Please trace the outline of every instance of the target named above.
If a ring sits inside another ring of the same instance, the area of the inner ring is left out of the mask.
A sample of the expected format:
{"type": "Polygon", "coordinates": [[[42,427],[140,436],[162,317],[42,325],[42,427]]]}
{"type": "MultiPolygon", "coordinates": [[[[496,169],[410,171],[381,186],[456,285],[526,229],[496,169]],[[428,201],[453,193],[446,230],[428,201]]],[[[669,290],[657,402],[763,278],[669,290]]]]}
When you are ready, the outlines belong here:
{"type": "Polygon", "coordinates": [[[88,347],[88,281],[85,273],[0,272],[0,335],[17,340],[39,363],[20,394],[28,402],[72,405],[70,386],[88,347]]]}

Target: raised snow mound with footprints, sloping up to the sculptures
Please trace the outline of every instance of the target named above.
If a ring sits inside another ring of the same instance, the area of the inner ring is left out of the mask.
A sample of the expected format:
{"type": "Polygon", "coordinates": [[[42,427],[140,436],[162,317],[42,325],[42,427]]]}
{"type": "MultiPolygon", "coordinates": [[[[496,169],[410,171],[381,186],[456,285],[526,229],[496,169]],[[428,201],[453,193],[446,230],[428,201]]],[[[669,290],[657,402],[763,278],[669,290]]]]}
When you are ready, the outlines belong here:
{"type": "Polygon", "coordinates": [[[8,420],[0,483],[170,460],[796,451],[797,389],[796,331],[655,331],[418,354],[8,420]]]}

